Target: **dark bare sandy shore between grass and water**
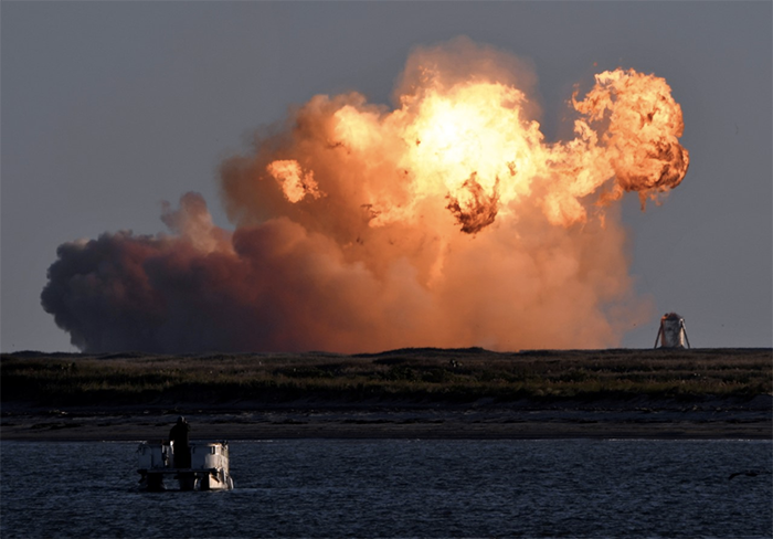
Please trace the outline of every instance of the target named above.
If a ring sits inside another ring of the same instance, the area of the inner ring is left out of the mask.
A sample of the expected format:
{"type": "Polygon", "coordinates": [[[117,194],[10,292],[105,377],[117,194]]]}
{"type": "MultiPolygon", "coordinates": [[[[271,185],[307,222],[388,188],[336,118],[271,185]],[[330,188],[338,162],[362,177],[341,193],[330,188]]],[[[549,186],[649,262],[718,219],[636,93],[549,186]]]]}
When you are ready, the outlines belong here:
{"type": "Polygon", "coordinates": [[[128,441],[168,436],[178,415],[201,440],[279,438],[773,438],[773,398],[507,406],[283,405],[39,410],[3,405],[3,441],[128,441]]]}

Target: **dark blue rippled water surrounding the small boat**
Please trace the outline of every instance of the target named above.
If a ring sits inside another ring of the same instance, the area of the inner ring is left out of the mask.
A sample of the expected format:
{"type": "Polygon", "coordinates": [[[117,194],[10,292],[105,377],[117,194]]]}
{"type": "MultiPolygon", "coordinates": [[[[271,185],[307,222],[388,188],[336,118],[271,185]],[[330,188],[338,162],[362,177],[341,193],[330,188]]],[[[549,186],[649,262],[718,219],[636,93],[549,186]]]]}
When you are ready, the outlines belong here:
{"type": "Polygon", "coordinates": [[[234,490],[160,494],[135,443],[0,448],[3,538],[773,536],[767,441],[232,442],[234,490]]]}

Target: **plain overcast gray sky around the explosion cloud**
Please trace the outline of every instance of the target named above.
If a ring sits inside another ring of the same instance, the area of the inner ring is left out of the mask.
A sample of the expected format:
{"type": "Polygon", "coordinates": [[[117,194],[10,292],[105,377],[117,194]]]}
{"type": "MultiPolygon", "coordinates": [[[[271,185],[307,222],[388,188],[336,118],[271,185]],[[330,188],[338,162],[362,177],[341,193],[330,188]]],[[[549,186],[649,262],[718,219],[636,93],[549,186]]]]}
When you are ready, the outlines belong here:
{"type": "Polygon", "coordinates": [[[1,9],[2,351],[74,351],[40,293],[56,247],[157,233],[161,201],[315,94],[390,103],[416,45],[457,35],[531,62],[548,139],[575,83],[617,66],[665,77],[685,117],[684,182],[624,201],[632,274],[696,347],[772,345],[772,3],[13,2],[1,9]],[[594,64],[596,64],[594,66],[594,64]]]}

